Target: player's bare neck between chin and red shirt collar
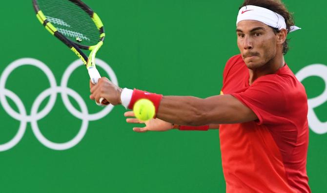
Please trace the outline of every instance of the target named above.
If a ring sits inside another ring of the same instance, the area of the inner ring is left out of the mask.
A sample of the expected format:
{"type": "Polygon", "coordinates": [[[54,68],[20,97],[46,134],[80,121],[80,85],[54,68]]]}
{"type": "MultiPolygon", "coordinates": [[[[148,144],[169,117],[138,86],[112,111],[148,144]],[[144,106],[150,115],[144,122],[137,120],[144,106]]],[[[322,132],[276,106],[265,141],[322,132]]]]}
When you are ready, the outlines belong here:
{"type": "Polygon", "coordinates": [[[249,69],[249,85],[257,80],[261,76],[265,76],[267,74],[274,74],[279,68],[285,65],[284,56],[282,57],[275,57],[274,59],[270,60],[267,64],[263,65],[257,69],[249,69]]]}

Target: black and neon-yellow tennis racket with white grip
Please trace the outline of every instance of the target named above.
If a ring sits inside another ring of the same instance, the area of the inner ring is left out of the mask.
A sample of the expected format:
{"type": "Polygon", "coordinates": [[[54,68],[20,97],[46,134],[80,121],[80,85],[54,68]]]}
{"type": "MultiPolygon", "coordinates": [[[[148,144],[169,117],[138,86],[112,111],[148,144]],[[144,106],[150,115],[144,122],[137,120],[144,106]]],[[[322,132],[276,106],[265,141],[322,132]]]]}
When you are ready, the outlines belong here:
{"type": "MultiPolygon", "coordinates": [[[[83,61],[91,82],[97,84],[101,76],[96,68],[95,55],[105,37],[99,16],[81,0],[33,0],[33,6],[45,29],[83,61]],[[89,50],[89,57],[82,50],[89,50]]],[[[108,104],[103,98],[97,103],[108,104]]]]}

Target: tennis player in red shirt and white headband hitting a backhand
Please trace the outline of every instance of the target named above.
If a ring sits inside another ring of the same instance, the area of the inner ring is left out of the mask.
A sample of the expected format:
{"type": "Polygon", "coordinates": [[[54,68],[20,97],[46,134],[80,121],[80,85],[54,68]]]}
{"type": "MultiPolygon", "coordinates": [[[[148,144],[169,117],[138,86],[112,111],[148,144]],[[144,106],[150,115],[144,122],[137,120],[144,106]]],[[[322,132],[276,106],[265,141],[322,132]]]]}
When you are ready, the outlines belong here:
{"type": "Polygon", "coordinates": [[[227,193],[310,193],[307,95],[284,60],[286,36],[300,28],[280,0],[245,0],[236,23],[240,54],[225,65],[220,95],[163,96],[102,78],[90,98],[129,109],[151,100],[156,119],[138,132],[219,128],[227,193]]]}

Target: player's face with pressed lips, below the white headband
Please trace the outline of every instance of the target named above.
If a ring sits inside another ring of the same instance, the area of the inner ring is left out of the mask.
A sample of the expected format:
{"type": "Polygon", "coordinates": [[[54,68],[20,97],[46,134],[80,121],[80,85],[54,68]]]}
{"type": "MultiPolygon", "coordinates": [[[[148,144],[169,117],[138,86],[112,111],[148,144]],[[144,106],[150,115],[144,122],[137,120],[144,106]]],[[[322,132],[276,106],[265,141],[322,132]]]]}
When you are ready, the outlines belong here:
{"type": "Polygon", "coordinates": [[[277,36],[260,21],[244,20],[237,24],[237,45],[249,69],[257,69],[275,58],[277,36]]]}

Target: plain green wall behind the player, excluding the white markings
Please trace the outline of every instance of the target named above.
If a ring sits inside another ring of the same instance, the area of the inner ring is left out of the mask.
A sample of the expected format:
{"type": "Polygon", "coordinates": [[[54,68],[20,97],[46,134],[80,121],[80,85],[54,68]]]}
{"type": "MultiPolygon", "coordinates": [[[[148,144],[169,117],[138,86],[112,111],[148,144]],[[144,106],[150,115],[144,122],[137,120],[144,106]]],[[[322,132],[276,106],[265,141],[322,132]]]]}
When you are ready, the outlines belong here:
{"type": "MultiPolygon", "coordinates": [[[[208,97],[220,93],[225,62],[238,54],[235,22],[242,0],[85,0],[106,29],[97,57],[111,66],[119,85],[164,95],[208,97]]],[[[325,0],[285,0],[303,30],[290,34],[286,62],[297,73],[310,64],[327,64],[325,0]]],[[[0,74],[13,61],[34,58],[47,64],[60,85],[76,56],[37,21],[31,0],[3,1],[0,74]]],[[[326,65],[325,65],[326,67],[326,65]]],[[[101,70],[102,75],[105,74],[101,70]]],[[[88,99],[83,66],[69,78],[89,113],[99,112],[88,99]]],[[[322,77],[303,81],[308,98],[326,89],[322,77]]],[[[15,69],[5,87],[30,115],[32,104],[49,88],[45,74],[31,65],[15,69]]],[[[2,90],[3,92],[3,90],[2,90]]],[[[18,107],[7,97],[9,104],[18,107]]],[[[79,106],[70,98],[74,106],[79,106]]],[[[327,99],[313,110],[327,122],[327,99]]],[[[41,104],[42,109],[48,98],[41,104]]],[[[123,107],[90,121],[82,141],[68,150],[52,150],[35,137],[28,122],[20,142],[0,152],[1,193],[214,193],[225,192],[219,131],[135,133],[123,107]]],[[[12,139],[20,121],[0,105],[0,144],[12,139]]],[[[49,140],[63,143],[79,132],[82,121],[65,107],[60,94],[38,126],[49,140]]],[[[326,129],[322,124],[318,129],[326,129]]],[[[310,129],[307,173],[312,192],[327,192],[326,133],[310,129]]]]}

